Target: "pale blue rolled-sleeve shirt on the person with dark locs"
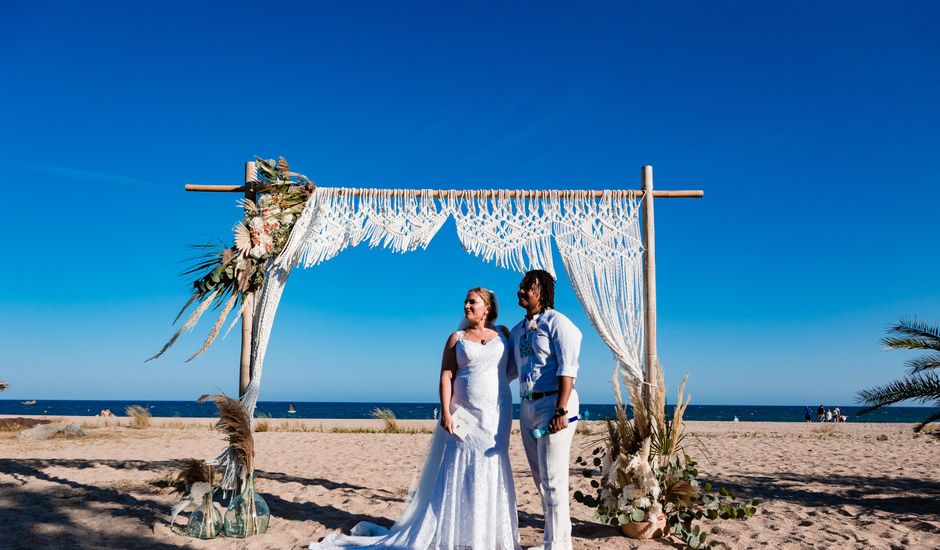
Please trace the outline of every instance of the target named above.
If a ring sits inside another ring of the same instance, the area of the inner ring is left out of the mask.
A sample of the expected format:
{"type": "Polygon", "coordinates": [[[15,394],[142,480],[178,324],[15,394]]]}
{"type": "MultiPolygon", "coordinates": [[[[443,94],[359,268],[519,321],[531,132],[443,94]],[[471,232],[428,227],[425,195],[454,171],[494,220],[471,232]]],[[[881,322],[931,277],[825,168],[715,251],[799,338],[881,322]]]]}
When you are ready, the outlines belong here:
{"type": "Polygon", "coordinates": [[[549,309],[523,318],[509,333],[509,379],[519,376],[519,395],[558,389],[558,377],[578,377],[581,331],[570,319],[549,309]]]}

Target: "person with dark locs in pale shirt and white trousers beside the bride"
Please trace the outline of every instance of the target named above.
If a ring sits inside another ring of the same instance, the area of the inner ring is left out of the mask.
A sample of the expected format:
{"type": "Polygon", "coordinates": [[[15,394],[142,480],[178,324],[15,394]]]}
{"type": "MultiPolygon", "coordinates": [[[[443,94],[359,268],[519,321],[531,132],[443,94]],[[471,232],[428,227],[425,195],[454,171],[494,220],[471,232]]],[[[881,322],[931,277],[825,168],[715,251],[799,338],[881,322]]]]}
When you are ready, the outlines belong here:
{"type": "Polygon", "coordinates": [[[571,549],[568,511],[568,467],[578,414],[581,331],[555,311],[555,279],[551,273],[529,271],[519,283],[519,305],[525,319],[509,335],[512,360],[519,369],[522,444],[545,513],[545,550],[571,549]],[[533,428],[547,429],[536,439],[533,428]]]}

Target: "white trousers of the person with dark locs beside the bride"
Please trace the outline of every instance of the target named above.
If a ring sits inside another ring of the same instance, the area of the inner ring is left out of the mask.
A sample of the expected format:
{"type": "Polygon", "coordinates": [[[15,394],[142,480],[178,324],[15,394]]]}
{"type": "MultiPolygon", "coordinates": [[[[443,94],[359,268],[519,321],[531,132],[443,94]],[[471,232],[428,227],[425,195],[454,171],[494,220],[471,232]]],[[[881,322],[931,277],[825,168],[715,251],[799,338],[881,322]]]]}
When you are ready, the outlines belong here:
{"type": "MultiPolygon", "coordinates": [[[[578,414],[578,392],[571,390],[568,418],[578,414]]],[[[545,550],[571,549],[571,516],[568,509],[568,468],[571,441],[577,422],[570,422],[560,432],[532,437],[532,428],[548,428],[555,412],[555,396],[535,401],[523,400],[519,407],[519,427],[535,486],[542,497],[545,513],[545,550]]]]}

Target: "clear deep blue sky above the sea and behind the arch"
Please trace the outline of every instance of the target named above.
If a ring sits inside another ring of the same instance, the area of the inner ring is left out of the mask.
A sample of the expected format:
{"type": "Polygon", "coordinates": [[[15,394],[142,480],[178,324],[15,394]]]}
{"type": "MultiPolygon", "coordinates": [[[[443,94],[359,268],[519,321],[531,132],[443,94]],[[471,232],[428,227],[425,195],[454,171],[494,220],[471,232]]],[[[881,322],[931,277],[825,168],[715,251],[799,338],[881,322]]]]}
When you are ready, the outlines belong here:
{"type": "MultiPolygon", "coordinates": [[[[9,399],[237,391],[234,333],[163,359],[187,244],[231,241],[258,154],[321,185],[624,188],[652,164],[659,351],[697,404],[848,404],[940,321],[936,2],[14,2],[0,22],[9,399]],[[12,234],[9,231],[12,228],[12,234]]],[[[561,265],[556,255],[557,265],[561,265]]],[[[433,401],[463,252],[360,248],[287,286],[263,400],[433,401]]],[[[582,401],[610,402],[586,334],[582,401]]]]}

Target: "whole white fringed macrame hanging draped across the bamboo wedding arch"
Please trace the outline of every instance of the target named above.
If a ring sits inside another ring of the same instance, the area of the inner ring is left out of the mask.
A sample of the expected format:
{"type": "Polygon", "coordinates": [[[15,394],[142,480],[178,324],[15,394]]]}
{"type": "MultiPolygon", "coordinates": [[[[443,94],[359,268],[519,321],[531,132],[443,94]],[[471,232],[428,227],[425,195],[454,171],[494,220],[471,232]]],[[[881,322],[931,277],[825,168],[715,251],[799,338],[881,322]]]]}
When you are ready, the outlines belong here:
{"type": "MultiPolygon", "coordinates": [[[[549,192],[543,198],[488,196],[479,191],[378,190],[318,187],[304,208],[284,251],[268,262],[255,302],[251,380],[241,403],[254,416],[264,355],[274,315],[291,269],[313,267],[347,247],[368,242],[395,252],[426,248],[449,216],[471,254],[504,268],[555,273],[551,237],[575,295],[617,368],[629,381],[643,380],[643,289],[639,200],[633,191],[549,192]]],[[[226,450],[216,463],[232,487],[242,472],[226,450]]]]}

